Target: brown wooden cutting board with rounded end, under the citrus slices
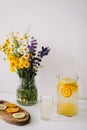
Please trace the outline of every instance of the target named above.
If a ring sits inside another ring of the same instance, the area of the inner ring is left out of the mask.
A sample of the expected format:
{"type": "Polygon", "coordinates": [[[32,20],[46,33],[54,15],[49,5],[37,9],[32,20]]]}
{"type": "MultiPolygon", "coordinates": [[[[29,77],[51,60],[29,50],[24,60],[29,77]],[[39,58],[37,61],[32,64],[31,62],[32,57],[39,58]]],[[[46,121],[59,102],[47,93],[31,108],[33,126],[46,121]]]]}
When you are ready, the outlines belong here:
{"type": "MultiPolygon", "coordinates": [[[[10,103],[8,101],[5,101],[5,100],[0,100],[0,104],[6,104],[6,103],[10,103]]],[[[6,108],[5,110],[0,110],[0,119],[3,119],[4,121],[10,123],[10,124],[14,124],[14,125],[25,125],[25,124],[28,124],[29,121],[30,121],[30,114],[29,112],[27,112],[26,110],[24,110],[23,108],[19,107],[16,105],[16,107],[19,108],[19,111],[18,112],[24,112],[25,113],[25,116],[23,118],[14,118],[13,117],[13,114],[14,113],[8,113],[6,111],[6,108]]]]}

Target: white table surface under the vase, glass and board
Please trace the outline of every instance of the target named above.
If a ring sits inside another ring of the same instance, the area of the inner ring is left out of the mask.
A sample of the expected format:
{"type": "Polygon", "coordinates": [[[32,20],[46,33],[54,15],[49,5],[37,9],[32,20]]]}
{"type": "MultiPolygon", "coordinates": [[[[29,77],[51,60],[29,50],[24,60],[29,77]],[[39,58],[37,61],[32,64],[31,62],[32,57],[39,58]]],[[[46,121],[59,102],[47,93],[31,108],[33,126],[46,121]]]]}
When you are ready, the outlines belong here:
{"type": "MultiPolygon", "coordinates": [[[[0,100],[2,99],[17,104],[14,93],[0,93],[0,100]]],[[[0,130],[87,130],[87,100],[79,100],[78,115],[65,117],[54,113],[52,120],[49,121],[40,119],[39,103],[21,107],[30,113],[30,123],[24,126],[16,126],[0,119],[0,130]]]]}

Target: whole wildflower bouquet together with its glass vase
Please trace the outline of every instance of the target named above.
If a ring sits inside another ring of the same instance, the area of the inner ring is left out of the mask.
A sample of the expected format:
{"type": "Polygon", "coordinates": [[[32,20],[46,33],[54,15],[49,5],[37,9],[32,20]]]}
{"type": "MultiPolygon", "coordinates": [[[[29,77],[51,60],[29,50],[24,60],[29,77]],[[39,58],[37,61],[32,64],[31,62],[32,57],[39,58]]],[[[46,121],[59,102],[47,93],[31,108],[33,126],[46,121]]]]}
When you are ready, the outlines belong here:
{"type": "Polygon", "coordinates": [[[17,72],[21,84],[17,89],[17,102],[22,105],[37,103],[38,92],[35,85],[35,76],[44,56],[50,52],[49,47],[41,47],[38,51],[37,40],[25,33],[19,37],[19,33],[12,32],[5,42],[0,45],[0,50],[9,61],[11,72],[17,72]]]}

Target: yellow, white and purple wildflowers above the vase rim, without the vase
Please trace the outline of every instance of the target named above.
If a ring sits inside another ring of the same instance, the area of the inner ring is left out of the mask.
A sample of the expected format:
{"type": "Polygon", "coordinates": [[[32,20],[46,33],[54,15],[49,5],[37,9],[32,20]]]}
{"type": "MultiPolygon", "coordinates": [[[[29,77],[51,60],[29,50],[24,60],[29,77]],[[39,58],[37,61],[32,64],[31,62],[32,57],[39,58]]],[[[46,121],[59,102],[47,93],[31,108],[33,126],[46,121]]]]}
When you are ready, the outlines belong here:
{"type": "Polygon", "coordinates": [[[16,71],[20,78],[30,79],[37,75],[42,58],[50,51],[49,47],[44,46],[37,51],[37,47],[37,40],[28,33],[19,37],[19,33],[12,32],[0,45],[0,50],[6,54],[11,72],[16,71]]]}

